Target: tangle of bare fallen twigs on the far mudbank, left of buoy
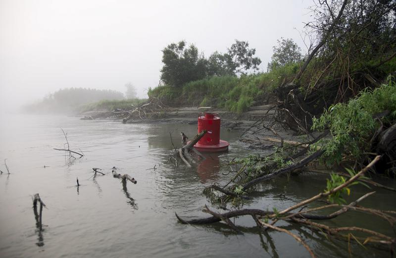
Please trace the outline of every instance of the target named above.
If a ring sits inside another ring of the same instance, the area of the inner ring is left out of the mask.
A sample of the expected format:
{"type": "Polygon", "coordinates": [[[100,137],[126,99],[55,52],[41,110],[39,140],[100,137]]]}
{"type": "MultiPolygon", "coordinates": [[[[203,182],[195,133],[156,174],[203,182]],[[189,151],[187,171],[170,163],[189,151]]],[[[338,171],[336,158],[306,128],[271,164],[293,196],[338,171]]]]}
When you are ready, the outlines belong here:
{"type": "Polygon", "coordinates": [[[124,117],[122,122],[127,123],[129,120],[148,121],[153,118],[162,117],[168,111],[168,107],[155,97],[138,107],[132,105],[132,108],[131,110],[116,109],[112,113],[124,117]]]}

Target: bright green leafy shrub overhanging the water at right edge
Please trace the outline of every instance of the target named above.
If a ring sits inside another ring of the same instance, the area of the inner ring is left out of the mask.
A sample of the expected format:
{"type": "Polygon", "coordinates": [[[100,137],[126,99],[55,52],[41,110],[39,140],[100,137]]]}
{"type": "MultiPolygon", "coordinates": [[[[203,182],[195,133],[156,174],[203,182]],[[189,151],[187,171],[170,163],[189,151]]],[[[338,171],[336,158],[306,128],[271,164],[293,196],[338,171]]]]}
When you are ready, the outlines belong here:
{"type": "Polygon", "coordinates": [[[330,129],[332,138],[322,140],[325,153],[322,160],[327,165],[340,164],[343,157],[361,159],[370,151],[370,139],[380,126],[374,115],[390,111],[381,119],[385,125],[396,121],[396,85],[391,78],[388,84],[374,90],[366,89],[347,104],[338,103],[313,119],[312,129],[330,129]]]}

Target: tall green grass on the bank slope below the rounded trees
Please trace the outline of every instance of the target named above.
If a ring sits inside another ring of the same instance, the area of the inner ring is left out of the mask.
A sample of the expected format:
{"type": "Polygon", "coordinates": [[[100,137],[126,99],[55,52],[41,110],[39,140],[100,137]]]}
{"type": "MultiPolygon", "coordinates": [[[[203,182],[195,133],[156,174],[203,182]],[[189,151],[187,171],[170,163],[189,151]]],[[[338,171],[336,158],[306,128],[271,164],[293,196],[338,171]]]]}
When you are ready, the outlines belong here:
{"type": "Polygon", "coordinates": [[[162,85],[149,88],[148,97],[156,97],[169,106],[211,106],[244,112],[268,101],[269,94],[298,71],[298,65],[280,67],[269,73],[237,76],[213,76],[191,81],[182,87],[162,85]]]}

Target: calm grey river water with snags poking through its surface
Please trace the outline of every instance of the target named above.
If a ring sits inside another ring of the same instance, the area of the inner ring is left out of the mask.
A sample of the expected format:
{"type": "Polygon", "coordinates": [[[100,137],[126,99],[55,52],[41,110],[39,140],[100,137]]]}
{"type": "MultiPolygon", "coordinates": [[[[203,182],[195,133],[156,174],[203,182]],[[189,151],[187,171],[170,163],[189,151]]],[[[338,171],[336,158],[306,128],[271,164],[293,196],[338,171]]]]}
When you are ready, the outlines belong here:
{"type": "MultiPolygon", "coordinates": [[[[224,184],[228,167],[213,169],[236,156],[256,151],[238,142],[240,132],[221,132],[230,142],[228,153],[211,155],[205,164],[188,169],[169,160],[170,132],[176,147],[179,132],[190,138],[196,125],[122,124],[117,121],[82,121],[73,116],[2,115],[0,131],[0,257],[308,257],[292,237],[279,232],[259,233],[250,217],[233,221],[244,235],[223,223],[193,226],[185,218],[206,217],[202,194],[205,186],[224,184]],[[70,149],[84,157],[69,160],[63,148],[67,133],[70,149]],[[6,172],[3,160],[11,174],[6,172]],[[115,166],[137,184],[127,185],[110,174],[115,166]],[[155,166],[155,169],[154,169],[155,166]],[[92,167],[105,176],[93,177],[92,167]],[[76,179],[80,186],[76,186],[76,179]],[[32,196],[40,193],[48,209],[43,210],[43,231],[37,228],[32,196]]],[[[325,177],[303,174],[281,177],[258,188],[256,198],[245,208],[286,208],[325,188],[325,177]]],[[[385,182],[395,187],[394,182],[385,182]]],[[[395,194],[377,190],[378,198],[362,204],[394,209],[395,194]]],[[[368,190],[357,186],[351,199],[368,190]]],[[[331,225],[364,225],[390,233],[381,220],[364,214],[343,215],[331,225]]],[[[279,225],[282,225],[280,223],[279,225]]],[[[307,229],[289,225],[318,257],[348,257],[348,246],[326,241],[307,229]]],[[[392,231],[391,231],[392,232],[392,231]]],[[[388,251],[364,250],[352,245],[358,257],[389,257],[388,251]]]]}

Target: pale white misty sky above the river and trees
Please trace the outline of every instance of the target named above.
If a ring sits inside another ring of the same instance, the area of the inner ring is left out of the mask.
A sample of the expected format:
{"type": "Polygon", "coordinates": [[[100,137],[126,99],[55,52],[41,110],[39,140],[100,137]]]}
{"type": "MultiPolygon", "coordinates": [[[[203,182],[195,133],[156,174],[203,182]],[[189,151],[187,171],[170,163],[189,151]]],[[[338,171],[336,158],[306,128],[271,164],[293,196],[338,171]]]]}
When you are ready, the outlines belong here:
{"type": "Polygon", "coordinates": [[[0,107],[40,100],[60,88],[138,96],[158,85],[161,50],[186,40],[205,56],[235,39],[256,49],[266,71],[272,46],[310,20],[312,0],[0,0],[0,107]],[[294,29],[296,28],[296,29],[294,29]]]}

